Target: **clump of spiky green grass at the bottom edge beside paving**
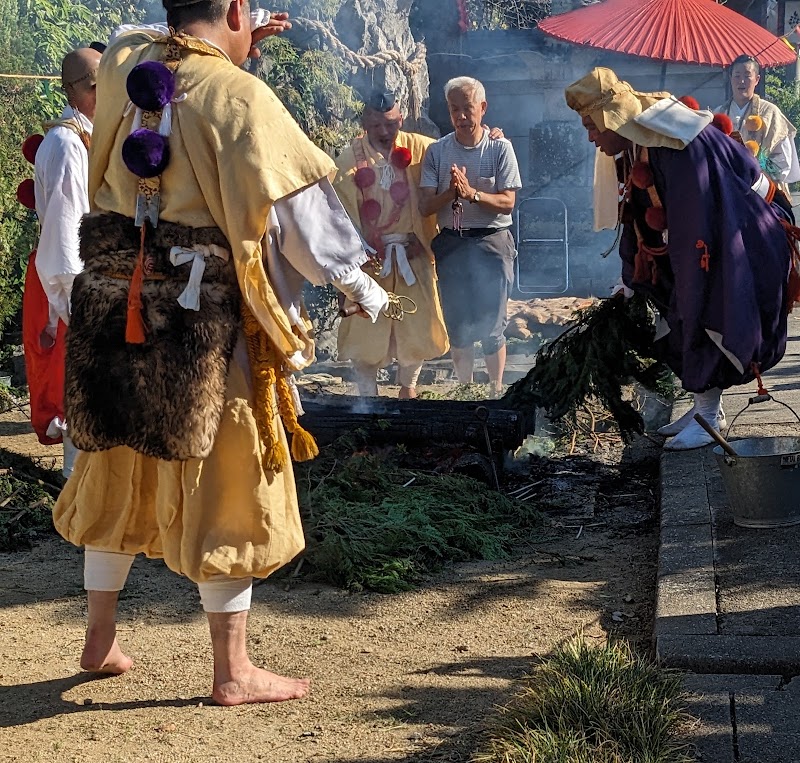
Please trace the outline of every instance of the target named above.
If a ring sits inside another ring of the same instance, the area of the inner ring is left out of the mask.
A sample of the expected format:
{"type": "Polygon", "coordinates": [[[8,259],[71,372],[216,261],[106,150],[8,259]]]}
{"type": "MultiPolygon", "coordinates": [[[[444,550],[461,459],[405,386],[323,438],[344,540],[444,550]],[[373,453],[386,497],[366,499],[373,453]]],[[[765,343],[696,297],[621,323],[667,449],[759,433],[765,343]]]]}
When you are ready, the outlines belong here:
{"type": "Polygon", "coordinates": [[[476,763],[689,763],[681,677],[622,643],[576,638],[503,711],[476,763]]]}

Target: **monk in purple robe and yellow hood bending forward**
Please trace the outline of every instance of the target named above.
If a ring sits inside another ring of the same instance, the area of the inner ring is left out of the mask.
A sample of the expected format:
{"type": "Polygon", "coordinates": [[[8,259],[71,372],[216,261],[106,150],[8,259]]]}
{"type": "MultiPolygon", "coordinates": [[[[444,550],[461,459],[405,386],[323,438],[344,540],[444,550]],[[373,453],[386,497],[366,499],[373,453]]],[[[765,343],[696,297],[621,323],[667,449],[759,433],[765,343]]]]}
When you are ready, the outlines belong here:
{"type": "Polygon", "coordinates": [[[691,411],[659,430],[675,435],[665,447],[707,445],[694,414],[719,430],[722,391],[786,349],[791,206],[710,112],[636,92],[605,68],[570,85],[566,99],[589,140],[616,158],[619,186],[608,192],[623,197],[623,288],[658,306],[656,352],[694,393],[691,411]]]}

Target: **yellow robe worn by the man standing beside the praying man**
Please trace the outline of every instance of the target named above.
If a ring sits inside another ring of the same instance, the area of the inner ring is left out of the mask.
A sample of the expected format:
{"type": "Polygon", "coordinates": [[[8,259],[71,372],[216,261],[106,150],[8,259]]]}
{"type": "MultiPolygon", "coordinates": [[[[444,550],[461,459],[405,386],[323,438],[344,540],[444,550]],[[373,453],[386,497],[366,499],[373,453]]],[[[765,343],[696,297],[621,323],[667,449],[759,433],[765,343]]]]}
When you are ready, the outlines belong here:
{"type": "MultiPolygon", "coordinates": [[[[381,154],[370,146],[366,136],[356,138],[355,141],[362,142],[367,163],[370,167],[374,167],[381,154]]],[[[407,132],[399,132],[395,140],[396,146],[411,151],[411,164],[406,168],[410,195],[400,219],[387,228],[385,233],[414,233],[422,243],[424,255],[417,255],[408,261],[417,281],[409,286],[400,275],[396,264],[393,265],[390,275],[385,278],[375,278],[386,291],[413,299],[417,305],[417,312],[405,316],[402,321],[393,321],[384,315],[380,315],[375,323],[365,321],[358,316],[342,319],[338,336],[340,360],[385,366],[396,359],[401,365],[413,366],[422,363],[423,360],[438,358],[450,347],[430,246],[436,235],[436,216],[422,217],[418,207],[422,159],[425,150],[433,142],[433,138],[407,132]]],[[[353,224],[362,230],[359,215],[361,194],[353,181],[357,167],[352,144],[342,152],[336,166],[339,169],[334,181],[336,193],[353,224]]],[[[380,176],[380,171],[377,170],[376,174],[380,176]]],[[[383,225],[391,215],[392,200],[388,191],[377,187],[377,182],[373,188],[372,195],[381,203],[383,210],[378,224],[383,225]]],[[[372,275],[369,265],[365,266],[365,269],[372,275]]],[[[407,303],[404,302],[404,306],[407,306],[407,303]]]]}

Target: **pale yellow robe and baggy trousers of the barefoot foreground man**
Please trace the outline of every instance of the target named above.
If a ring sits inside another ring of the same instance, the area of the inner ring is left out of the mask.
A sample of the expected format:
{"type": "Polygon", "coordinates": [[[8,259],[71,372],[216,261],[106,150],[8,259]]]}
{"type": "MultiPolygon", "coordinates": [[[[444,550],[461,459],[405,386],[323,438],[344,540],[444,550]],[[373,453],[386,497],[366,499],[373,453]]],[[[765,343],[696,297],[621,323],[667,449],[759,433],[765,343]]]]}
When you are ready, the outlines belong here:
{"type": "MultiPolygon", "coordinates": [[[[125,81],[133,66],[162,51],[152,34],[137,31],[104,54],[89,159],[93,211],[134,215],[137,181],[121,158],[133,119],[132,110],[123,116],[125,81]]],[[[313,343],[292,330],[280,307],[262,243],[272,204],[332,177],[333,162],[263,82],[227,58],[191,52],[176,77],[176,95],[187,97],[173,110],[161,218],[224,232],[245,303],[281,353],[303,365],[313,358],[313,343]]],[[[291,466],[265,473],[261,452],[240,340],[209,457],[161,461],[126,447],[79,453],[53,510],[56,529],[76,545],[163,558],[196,582],[219,574],[265,577],[302,551],[304,539],[291,466]]]]}

